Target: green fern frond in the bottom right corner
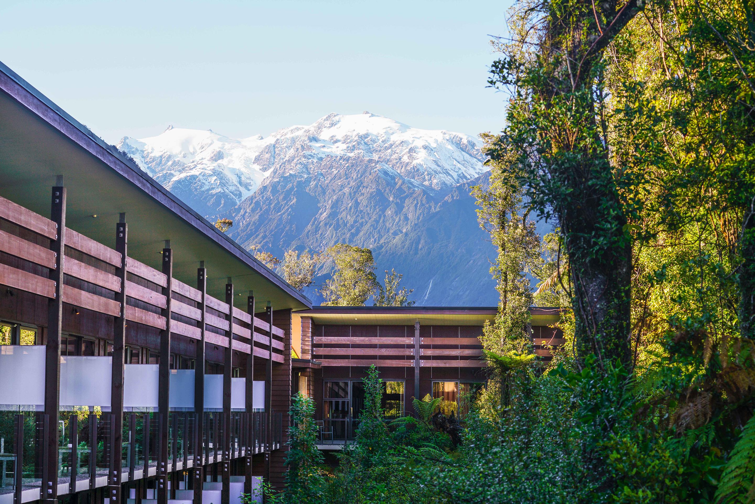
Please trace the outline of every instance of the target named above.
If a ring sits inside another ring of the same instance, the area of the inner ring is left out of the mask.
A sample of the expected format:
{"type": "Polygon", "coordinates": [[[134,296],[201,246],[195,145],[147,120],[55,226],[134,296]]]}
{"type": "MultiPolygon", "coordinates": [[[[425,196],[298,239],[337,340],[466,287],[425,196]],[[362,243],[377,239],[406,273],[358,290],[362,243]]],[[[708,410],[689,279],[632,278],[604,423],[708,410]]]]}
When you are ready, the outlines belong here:
{"type": "Polygon", "coordinates": [[[744,425],[716,490],[717,504],[755,502],[755,416],[744,425]]]}

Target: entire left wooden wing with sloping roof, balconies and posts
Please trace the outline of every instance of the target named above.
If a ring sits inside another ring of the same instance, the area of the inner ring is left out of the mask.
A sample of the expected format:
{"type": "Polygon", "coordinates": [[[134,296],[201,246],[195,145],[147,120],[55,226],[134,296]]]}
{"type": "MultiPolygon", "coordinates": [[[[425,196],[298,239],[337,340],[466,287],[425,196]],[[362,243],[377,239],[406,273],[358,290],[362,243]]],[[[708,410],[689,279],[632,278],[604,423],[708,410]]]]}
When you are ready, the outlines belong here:
{"type": "Polygon", "coordinates": [[[282,485],[311,302],[0,64],[0,504],[282,485]]]}

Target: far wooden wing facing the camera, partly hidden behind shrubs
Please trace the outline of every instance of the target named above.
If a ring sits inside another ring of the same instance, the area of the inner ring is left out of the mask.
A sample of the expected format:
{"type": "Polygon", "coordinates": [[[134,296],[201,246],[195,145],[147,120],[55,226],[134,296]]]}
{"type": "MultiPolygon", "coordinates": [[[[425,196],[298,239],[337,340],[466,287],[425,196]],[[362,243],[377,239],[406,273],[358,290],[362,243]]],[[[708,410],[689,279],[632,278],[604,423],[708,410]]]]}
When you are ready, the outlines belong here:
{"type": "MultiPolygon", "coordinates": [[[[387,417],[414,412],[411,400],[440,397],[458,412],[487,379],[479,336],[496,308],[325,307],[294,313],[293,391],[304,391],[322,422],[322,448],[353,439],[368,366],[383,380],[387,417]]],[[[535,353],[562,345],[558,308],[532,308],[535,353]]],[[[463,412],[462,412],[463,413],[463,412]]]]}

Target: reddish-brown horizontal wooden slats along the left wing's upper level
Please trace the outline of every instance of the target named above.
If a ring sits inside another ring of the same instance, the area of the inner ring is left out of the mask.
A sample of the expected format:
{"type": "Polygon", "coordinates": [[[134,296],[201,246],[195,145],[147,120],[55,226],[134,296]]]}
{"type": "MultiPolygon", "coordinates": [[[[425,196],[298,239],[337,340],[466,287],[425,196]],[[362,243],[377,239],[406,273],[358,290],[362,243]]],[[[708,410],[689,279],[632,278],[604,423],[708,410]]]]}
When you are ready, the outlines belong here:
{"type": "MultiPolygon", "coordinates": [[[[13,229],[0,230],[0,252],[12,256],[10,264],[0,264],[0,283],[42,295],[55,297],[56,283],[51,271],[58,269],[58,260],[51,250],[51,241],[57,240],[57,224],[23,206],[0,197],[0,218],[14,224],[13,229]]],[[[165,329],[166,320],[161,311],[168,306],[162,290],[168,286],[168,277],[153,267],[134,258],[125,258],[125,285],[116,276],[123,266],[120,252],[97,243],[91,238],[66,227],[61,299],[74,307],[119,317],[121,305],[116,292],[125,292],[124,316],[126,320],[156,329],[165,329]]],[[[202,292],[179,280],[171,280],[171,332],[192,339],[202,339],[197,326],[202,320],[202,292]]],[[[283,362],[282,329],[273,326],[270,341],[270,324],[233,308],[210,295],[205,296],[205,323],[221,331],[232,331],[239,339],[206,331],[205,341],[245,354],[254,353],[264,359],[283,362]],[[233,316],[230,315],[233,313],[233,316]],[[231,320],[229,322],[229,319],[231,320]],[[262,335],[255,329],[268,332],[262,335]],[[267,348],[257,348],[254,342],[267,348]]]]}

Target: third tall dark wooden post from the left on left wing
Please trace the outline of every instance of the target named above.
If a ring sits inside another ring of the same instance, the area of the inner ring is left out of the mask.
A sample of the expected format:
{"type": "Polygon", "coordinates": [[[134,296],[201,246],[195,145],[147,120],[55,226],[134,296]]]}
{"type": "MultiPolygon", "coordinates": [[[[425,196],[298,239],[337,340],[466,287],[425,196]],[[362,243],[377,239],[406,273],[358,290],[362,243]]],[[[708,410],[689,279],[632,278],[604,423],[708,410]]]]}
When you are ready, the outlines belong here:
{"type": "Polygon", "coordinates": [[[170,240],[165,240],[162,249],[162,273],[167,278],[167,286],[163,287],[166,306],[162,310],[165,317],[165,329],[160,331],[160,364],[158,382],[158,449],[157,462],[157,504],[168,504],[168,413],[170,411],[171,390],[171,295],[173,283],[173,251],[170,240]]]}

